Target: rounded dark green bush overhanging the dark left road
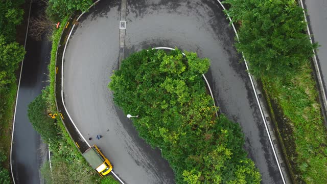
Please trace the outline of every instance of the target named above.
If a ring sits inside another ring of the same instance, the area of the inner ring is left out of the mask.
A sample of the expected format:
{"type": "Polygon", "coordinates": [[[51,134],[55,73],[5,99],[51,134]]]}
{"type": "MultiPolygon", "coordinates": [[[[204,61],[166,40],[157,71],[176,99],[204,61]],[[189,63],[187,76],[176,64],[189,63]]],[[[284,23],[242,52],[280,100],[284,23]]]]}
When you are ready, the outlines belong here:
{"type": "Polygon", "coordinates": [[[28,117],[33,128],[39,132],[42,140],[46,143],[57,140],[57,127],[55,120],[48,117],[48,104],[42,95],[37,96],[33,102],[29,104],[28,117]]]}

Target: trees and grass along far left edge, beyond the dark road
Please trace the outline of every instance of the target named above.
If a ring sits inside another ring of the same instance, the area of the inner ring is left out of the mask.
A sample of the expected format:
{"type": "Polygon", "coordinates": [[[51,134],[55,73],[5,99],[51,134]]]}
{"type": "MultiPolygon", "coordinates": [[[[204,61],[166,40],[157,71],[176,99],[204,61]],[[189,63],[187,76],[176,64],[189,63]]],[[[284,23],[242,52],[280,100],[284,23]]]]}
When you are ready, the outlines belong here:
{"type": "Polygon", "coordinates": [[[0,1],[0,183],[10,183],[9,153],[14,104],[17,93],[16,70],[25,55],[16,42],[16,27],[21,24],[24,0],[0,1]]]}

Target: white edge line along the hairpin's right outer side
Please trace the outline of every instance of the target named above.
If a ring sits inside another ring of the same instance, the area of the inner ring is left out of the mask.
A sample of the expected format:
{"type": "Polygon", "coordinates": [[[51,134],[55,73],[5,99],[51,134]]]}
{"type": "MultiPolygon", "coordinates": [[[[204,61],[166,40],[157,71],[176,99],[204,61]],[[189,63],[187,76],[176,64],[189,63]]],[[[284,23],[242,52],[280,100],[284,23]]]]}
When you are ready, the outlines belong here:
{"type": "MultiPolygon", "coordinates": [[[[221,7],[222,7],[224,10],[226,10],[226,8],[224,7],[224,5],[223,5],[219,0],[217,0],[217,1],[218,1],[219,4],[221,5],[221,7]]],[[[236,31],[236,29],[235,29],[235,26],[234,26],[233,22],[231,21],[230,16],[229,16],[228,14],[227,14],[227,16],[228,16],[228,19],[229,19],[229,21],[230,21],[230,24],[231,24],[232,27],[233,27],[233,30],[234,30],[234,32],[235,32],[235,34],[236,34],[236,37],[237,37],[238,41],[240,42],[240,40],[239,40],[239,36],[238,36],[237,31],[236,31]]],[[[244,57],[243,52],[242,52],[242,56],[243,56],[243,59],[244,59],[244,62],[245,62],[246,69],[249,70],[249,67],[248,67],[248,65],[247,65],[247,62],[246,62],[246,59],[245,59],[245,57],[244,57]]],[[[267,133],[268,133],[269,142],[270,142],[270,145],[271,145],[272,151],[273,151],[273,153],[274,153],[274,156],[275,156],[275,159],[276,159],[276,162],[277,162],[277,166],[278,166],[278,169],[279,169],[279,173],[281,173],[281,175],[282,175],[282,179],[283,179],[283,183],[285,184],[286,182],[285,182],[285,179],[284,179],[284,175],[283,175],[283,172],[282,172],[282,169],[281,169],[280,163],[278,162],[277,154],[276,154],[276,151],[275,151],[274,145],[273,145],[272,140],[271,140],[271,136],[270,136],[270,133],[269,133],[269,130],[268,130],[267,122],[266,122],[266,119],[265,119],[264,113],[263,113],[263,111],[262,111],[262,108],[261,108],[261,104],[260,104],[260,101],[259,101],[258,95],[256,94],[256,90],[255,90],[255,87],[254,87],[254,83],[253,83],[253,80],[252,80],[252,76],[251,76],[251,74],[250,74],[249,72],[248,72],[248,75],[249,75],[249,78],[250,78],[250,81],[251,81],[251,85],[252,85],[252,88],[253,88],[253,91],[254,91],[254,95],[255,95],[256,102],[258,102],[258,106],[259,106],[259,109],[260,109],[260,112],[261,112],[262,119],[263,119],[264,124],[265,124],[266,131],[267,131],[267,133]]]]}

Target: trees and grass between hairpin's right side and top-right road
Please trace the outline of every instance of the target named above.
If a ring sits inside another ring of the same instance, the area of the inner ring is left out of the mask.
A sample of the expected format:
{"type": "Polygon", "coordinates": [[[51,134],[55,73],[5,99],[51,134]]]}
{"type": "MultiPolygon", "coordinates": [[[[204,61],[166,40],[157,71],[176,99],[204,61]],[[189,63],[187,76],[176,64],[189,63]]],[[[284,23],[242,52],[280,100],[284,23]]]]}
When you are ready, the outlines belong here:
{"type": "Polygon", "coordinates": [[[284,0],[224,3],[239,24],[236,48],[262,82],[293,182],[327,183],[327,132],[310,62],[317,44],[303,9],[284,0]]]}

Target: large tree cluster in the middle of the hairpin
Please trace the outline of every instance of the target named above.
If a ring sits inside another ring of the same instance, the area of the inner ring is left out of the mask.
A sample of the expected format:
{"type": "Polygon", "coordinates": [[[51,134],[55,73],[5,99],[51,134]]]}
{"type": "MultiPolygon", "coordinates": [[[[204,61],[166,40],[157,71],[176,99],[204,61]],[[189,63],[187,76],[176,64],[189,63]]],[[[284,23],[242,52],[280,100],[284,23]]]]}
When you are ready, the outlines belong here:
{"type": "Polygon", "coordinates": [[[143,50],[122,61],[109,87],[116,105],[139,115],[139,135],[162,150],[178,183],[260,183],[240,126],[215,116],[202,79],[208,68],[196,53],[143,50]]]}

